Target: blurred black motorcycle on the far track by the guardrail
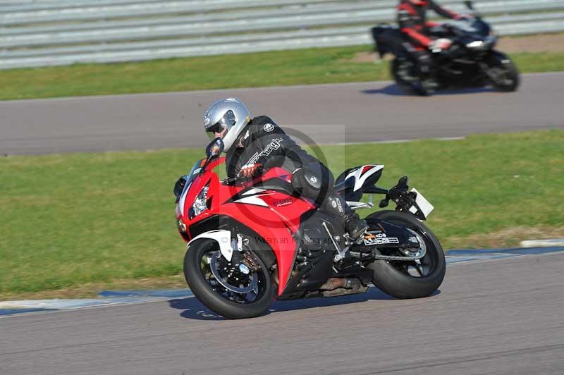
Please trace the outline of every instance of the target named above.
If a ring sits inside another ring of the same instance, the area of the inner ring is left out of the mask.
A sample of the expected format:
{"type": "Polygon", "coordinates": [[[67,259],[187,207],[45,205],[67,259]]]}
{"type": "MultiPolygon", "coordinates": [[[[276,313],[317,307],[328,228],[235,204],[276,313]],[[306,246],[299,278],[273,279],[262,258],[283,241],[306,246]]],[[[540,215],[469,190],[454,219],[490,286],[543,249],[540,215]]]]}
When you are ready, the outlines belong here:
{"type": "Polygon", "coordinates": [[[434,90],[486,87],[513,92],[519,86],[517,67],[503,52],[494,49],[498,38],[491,26],[465,1],[472,17],[453,20],[431,27],[434,38],[448,38],[448,49],[431,51],[431,77],[422,77],[410,51],[414,47],[403,33],[391,25],[372,29],[376,51],[383,57],[393,54],[391,73],[398,86],[407,93],[428,95],[434,90]]]}

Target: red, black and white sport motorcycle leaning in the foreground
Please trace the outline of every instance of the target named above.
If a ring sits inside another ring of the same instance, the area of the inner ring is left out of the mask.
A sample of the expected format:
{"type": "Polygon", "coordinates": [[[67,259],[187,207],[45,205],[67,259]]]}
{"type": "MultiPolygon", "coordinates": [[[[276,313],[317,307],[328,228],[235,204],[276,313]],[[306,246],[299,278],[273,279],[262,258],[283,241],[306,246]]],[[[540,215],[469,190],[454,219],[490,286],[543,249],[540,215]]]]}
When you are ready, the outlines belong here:
{"type": "Polygon", "coordinates": [[[178,232],[188,242],[184,274],[194,295],[226,318],[259,316],[271,302],[363,293],[369,284],[398,298],[427,297],[441,285],[446,264],[436,236],[422,221],[433,207],[407,177],[390,190],[376,187],[384,166],[344,171],[335,189],[353,209],[385,195],[396,210],[366,217],[355,242],[338,219],[300,197],[291,173],[271,168],[252,180],[220,180],[220,139],[207,147],[174,187],[178,232]]]}

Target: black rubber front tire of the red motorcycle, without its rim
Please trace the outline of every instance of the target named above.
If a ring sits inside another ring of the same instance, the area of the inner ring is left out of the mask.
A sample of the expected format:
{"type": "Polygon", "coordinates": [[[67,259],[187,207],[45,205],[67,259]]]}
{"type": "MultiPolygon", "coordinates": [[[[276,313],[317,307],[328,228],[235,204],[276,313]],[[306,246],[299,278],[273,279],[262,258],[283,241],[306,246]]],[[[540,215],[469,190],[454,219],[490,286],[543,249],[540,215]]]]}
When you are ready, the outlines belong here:
{"type": "MultiPolygon", "coordinates": [[[[216,252],[219,252],[219,245],[214,240],[197,240],[188,246],[184,257],[184,276],[192,293],[210,310],[228,319],[247,319],[262,315],[274,300],[275,293],[266,259],[262,259],[264,254],[252,252],[260,267],[257,271],[252,271],[258,274],[258,292],[256,300],[246,303],[243,298],[239,302],[234,302],[235,299],[230,300],[226,297],[226,293],[221,293],[224,289],[222,285],[216,283],[212,286],[210,280],[215,281],[214,277],[204,276],[207,274],[202,269],[202,265],[205,266],[206,262],[204,257],[216,252]]],[[[236,293],[231,293],[231,298],[233,295],[237,297],[236,293]]]]}

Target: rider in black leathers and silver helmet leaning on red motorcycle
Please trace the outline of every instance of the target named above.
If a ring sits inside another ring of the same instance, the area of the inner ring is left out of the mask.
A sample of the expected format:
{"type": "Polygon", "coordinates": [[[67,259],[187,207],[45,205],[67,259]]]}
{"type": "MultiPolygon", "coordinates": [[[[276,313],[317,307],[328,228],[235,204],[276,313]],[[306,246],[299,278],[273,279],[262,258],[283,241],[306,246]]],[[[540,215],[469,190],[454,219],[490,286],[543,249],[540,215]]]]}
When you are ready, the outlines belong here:
{"type": "Polygon", "coordinates": [[[239,99],[221,99],[205,111],[204,129],[210,139],[223,140],[229,178],[252,178],[263,168],[284,168],[293,173],[295,190],[316,202],[321,211],[340,219],[353,240],[367,230],[366,221],[333,190],[329,168],[307,154],[268,116],[251,118],[239,99]]]}

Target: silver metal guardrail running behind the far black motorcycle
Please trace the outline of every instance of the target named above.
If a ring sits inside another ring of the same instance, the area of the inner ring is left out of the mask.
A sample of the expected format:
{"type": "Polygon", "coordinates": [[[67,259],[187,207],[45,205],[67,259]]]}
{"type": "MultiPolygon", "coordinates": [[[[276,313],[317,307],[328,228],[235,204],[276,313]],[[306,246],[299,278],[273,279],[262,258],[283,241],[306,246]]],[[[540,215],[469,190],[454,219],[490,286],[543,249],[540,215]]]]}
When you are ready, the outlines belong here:
{"type": "MultiPolygon", "coordinates": [[[[500,35],[564,30],[564,0],[476,1],[500,35]]],[[[369,44],[396,0],[0,1],[0,69],[369,44]],[[356,26],[355,26],[356,25],[356,26]],[[362,26],[361,26],[362,25],[362,26]]],[[[464,11],[461,1],[444,1],[464,11]]]]}

